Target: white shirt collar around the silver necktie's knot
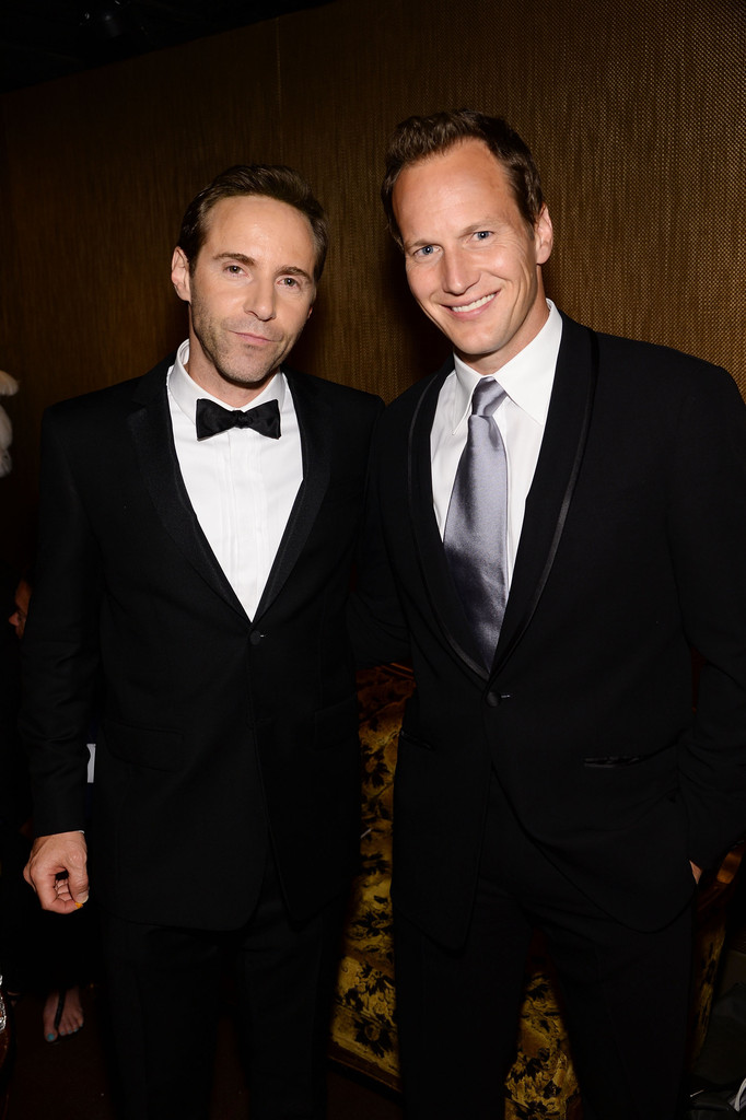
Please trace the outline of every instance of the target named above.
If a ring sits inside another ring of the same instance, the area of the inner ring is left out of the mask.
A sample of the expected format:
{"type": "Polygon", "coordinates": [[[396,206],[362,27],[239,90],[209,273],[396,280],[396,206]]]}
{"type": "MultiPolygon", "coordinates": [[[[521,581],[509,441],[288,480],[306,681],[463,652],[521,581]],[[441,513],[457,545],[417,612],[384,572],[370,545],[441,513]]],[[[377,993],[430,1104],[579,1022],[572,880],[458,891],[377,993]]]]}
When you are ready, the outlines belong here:
{"type": "MultiPolygon", "coordinates": [[[[557,355],[562,337],[562,317],[551,299],[547,300],[547,306],[549,317],[539,334],[494,374],[513,403],[542,426],[547,422],[549,398],[552,392],[557,355]]],[[[477,373],[456,355],[454,355],[454,364],[456,391],[454,393],[453,430],[455,432],[463,423],[467,422],[472,414],[472,394],[484,374],[477,373]]]]}

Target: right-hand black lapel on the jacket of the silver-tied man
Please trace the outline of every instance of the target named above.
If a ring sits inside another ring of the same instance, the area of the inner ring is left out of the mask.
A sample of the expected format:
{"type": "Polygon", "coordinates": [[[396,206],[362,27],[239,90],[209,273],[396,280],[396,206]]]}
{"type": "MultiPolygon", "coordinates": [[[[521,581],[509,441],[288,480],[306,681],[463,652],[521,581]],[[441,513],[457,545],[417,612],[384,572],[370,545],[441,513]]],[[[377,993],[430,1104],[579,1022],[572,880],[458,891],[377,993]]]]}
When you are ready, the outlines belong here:
{"type": "Polygon", "coordinates": [[[582,461],[597,377],[595,334],[562,316],[547,428],[525,503],[492,676],[504,668],[521,641],[549,578],[582,461]]]}

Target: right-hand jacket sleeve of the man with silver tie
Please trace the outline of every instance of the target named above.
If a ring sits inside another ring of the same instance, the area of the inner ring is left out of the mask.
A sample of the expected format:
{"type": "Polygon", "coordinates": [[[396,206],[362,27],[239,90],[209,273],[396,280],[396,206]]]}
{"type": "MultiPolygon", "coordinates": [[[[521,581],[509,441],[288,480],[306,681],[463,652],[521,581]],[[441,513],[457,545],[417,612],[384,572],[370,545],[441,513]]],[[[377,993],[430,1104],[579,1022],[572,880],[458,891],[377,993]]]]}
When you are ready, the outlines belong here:
{"type": "Polygon", "coordinates": [[[669,539],[686,634],[703,659],[680,744],[690,858],[711,867],[746,834],[746,408],[711,372],[680,402],[669,539]]]}

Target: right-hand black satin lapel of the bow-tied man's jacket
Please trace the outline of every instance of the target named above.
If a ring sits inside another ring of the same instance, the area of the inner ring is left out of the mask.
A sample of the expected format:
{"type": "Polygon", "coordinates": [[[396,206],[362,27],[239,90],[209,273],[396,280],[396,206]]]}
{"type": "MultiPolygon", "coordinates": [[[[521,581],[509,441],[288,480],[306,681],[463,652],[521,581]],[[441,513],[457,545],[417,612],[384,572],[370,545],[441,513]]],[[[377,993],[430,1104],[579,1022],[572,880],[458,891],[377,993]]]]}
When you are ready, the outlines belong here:
{"type": "Polygon", "coordinates": [[[285,581],[298,561],[300,551],[314,528],[332,470],[330,433],[334,424],[344,422],[335,417],[326,401],[320,400],[316,383],[292,370],[283,371],[300,429],[304,480],[290,511],[274,563],[257,607],[259,618],[277,598],[285,581]]]}

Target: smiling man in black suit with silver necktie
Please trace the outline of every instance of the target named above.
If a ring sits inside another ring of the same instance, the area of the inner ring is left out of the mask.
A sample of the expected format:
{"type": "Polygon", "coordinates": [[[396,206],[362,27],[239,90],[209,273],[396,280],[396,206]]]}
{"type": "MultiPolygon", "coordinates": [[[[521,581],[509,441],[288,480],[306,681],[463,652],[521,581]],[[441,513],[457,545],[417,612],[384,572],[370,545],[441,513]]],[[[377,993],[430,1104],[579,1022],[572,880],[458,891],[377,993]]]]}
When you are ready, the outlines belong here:
{"type": "Polygon", "coordinates": [[[552,226],[504,121],[405,121],[382,194],[454,346],[376,432],[353,614],[361,653],[411,653],[417,681],[394,796],[408,1114],[503,1114],[540,927],[586,1120],[671,1120],[696,880],[746,824],[743,402],[548,302],[552,226]]]}

